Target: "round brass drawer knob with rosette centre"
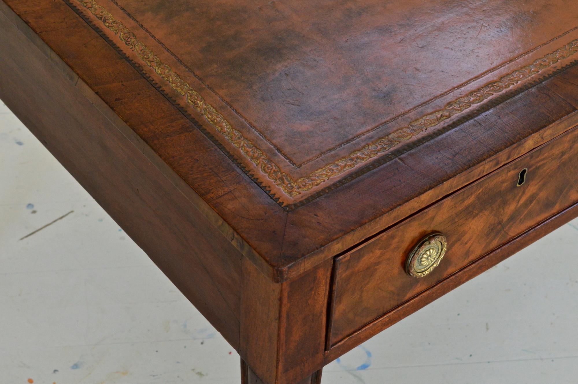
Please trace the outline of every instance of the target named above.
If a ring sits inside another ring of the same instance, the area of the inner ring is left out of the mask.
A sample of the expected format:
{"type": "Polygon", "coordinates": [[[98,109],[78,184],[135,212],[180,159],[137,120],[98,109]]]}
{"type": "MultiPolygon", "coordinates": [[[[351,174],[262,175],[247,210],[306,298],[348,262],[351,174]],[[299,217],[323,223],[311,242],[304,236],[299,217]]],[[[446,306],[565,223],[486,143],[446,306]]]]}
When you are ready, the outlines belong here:
{"type": "Polygon", "coordinates": [[[442,261],[447,249],[446,236],[431,233],[420,240],[407,256],[406,272],[413,277],[424,277],[442,261]]]}

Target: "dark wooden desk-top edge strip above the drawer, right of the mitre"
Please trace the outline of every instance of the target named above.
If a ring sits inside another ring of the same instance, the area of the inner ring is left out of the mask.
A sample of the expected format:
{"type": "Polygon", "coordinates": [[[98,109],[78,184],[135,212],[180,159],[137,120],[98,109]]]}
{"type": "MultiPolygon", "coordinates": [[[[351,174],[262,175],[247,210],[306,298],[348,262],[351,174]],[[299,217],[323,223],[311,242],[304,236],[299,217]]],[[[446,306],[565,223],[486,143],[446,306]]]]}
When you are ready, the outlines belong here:
{"type": "Polygon", "coordinates": [[[299,262],[288,265],[282,276],[302,273],[328,254],[354,247],[577,125],[575,107],[550,86],[549,81],[536,85],[340,187],[339,192],[290,212],[281,255],[288,263],[299,262]],[[366,218],[364,223],[360,218],[366,218]],[[319,248],[320,243],[327,245],[319,248]],[[312,251],[299,258],[303,248],[312,251]]]}

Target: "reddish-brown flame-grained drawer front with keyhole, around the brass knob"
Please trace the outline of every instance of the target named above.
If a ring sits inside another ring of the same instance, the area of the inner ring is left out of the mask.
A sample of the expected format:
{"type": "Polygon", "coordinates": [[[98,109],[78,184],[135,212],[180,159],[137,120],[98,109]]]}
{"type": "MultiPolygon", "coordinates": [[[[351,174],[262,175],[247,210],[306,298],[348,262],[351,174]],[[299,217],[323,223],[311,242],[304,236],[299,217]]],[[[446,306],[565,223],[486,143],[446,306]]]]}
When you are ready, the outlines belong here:
{"type": "Polygon", "coordinates": [[[336,258],[328,346],[577,201],[573,128],[336,258]],[[431,233],[446,237],[447,251],[430,273],[412,277],[407,256],[431,233]]]}

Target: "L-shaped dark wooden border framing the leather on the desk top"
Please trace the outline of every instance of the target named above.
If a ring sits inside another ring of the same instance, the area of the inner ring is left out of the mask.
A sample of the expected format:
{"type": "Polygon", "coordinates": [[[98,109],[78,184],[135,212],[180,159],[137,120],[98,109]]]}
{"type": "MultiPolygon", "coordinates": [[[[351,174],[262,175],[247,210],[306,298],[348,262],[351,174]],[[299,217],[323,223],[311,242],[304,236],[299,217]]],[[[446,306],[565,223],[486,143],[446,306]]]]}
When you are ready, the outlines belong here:
{"type": "MultiPolygon", "coordinates": [[[[117,9],[110,1],[98,2],[107,4],[111,10],[117,9]]],[[[431,128],[428,132],[435,135],[420,139],[420,146],[399,152],[394,148],[394,152],[386,156],[370,159],[372,165],[381,165],[355,180],[348,176],[346,184],[328,193],[323,191],[323,196],[306,204],[302,202],[307,199],[299,200],[302,205],[287,212],[262,191],[266,186],[260,188],[255,184],[257,177],[264,177],[261,168],[255,170],[254,164],[243,163],[241,156],[239,163],[246,167],[245,172],[250,170],[248,166],[253,166],[253,172],[248,172],[249,175],[244,173],[238,163],[229,161],[225,156],[226,150],[215,146],[208,135],[198,129],[201,127],[209,131],[214,128],[202,120],[200,113],[176,108],[177,99],[184,97],[175,90],[160,87],[165,81],[160,75],[167,77],[167,73],[163,72],[166,68],[159,67],[160,74],[153,73],[142,59],[136,57],[131,49],[142,47],[126,45],[130,43],[131,36],[121,28],[123,24],[106,15],[105,19],[98,6],[92,9],[95,11],[92,14],[79,0],[3,0],[0,2],[0,12],[3,12],[4,3],[16,12],[11,16],[14,20],[31,27],[29,30],[19,29],[33,41],[39,41],[47,62],[62,59],[59,68],[62,66],[78,75],[71,77],[71,84],[84,84],[90,100],[101,99],[106,103],[99,107],[101,113],[112,121],[125,122],[127,126],[123,128],[121,124],[118,129],[155,166],[160,167],[169,180],[180,185],[180,190],[192,201],[204,200],[207,207],[202,206],[202,211],[212,218],[217,228],[227,223],[231,228],[221,229],[225,236],[231,238],[243,255],[275,281],[295,277],[353,247],[523,155],[544,140],[568,130],[578,121],[578,66],[547,80],[544,77],[548,73],[539,70],[524,80],[525,86],[533,86],[530,90],[516,90],[514,93],[517,96],[514,97],[509,91],[504,91],[502,94],[507,94],[506,98],[495,102],[494,99],[486,99],[483,104],[487,111],[474,117],[466,111],[468,118],[465,120],[460,117],[462,114],[458,114],[460,121],[450,120],[450,131],[447,127],[436,127],[433,132],[431,128]],[[72,3],[78,5],[76,10],[71,9],[72,3]],[[97,33],[97,24],[101,32],[109,31],[108,34],[103,33],[104,39],[97,33]],[[123,52],[126,58],[119,54],[123,52]],[[131,60],[135,62],[131,64],[131,60]],[[139,60],[139,64],[136,64],[136,60],[139,60]],[[536,84],[542,80],[542,83],[536,84]],[[153,85],[157,87],[156,90],[153,85]],[[159,89],[165,92],[166,97],[157,91],[159,89]],[[491,109],[487,107],[488,104],[492,106],[491,109]],[[194,121],[199,124],[195,125],[194,121]]],[[[82,0],[82,3],[87,3],[90,8],[95,4],[91,0],[82,0]]],[[[120,9],[116,13],[124,14],[120,9]]],[[[131,31],[139,31],[141,27],[138,24],[125,14],[124,18],[128,20],[123,19],[131,31]]],[[[571,27],[568,25],[568,28],[571,27]]],[[[561,39],[570,39],[572,33],[561,39]]],[[[139,33],[139,38],[153,47],[155,52],[164,51],[147,33],[139,33]]],[[[560,39],[555,42],[560,42],[560,39]]],[[[532,55],[547,54],[554,49],[555,42],[540,48],[539,53],[533,51],[532,55]]],[[[143,52],[146,53],[145,50],[143,52]]],[[[562,54],[569,55],[569,60],[572,60],[574,53],[575,50],[562,50],[562,54]]],[[[10,60],[11,56],[17,57],[19,53],[12,51],[8,54],[10,60]]],[[[166,55],[170,56],[168,53],[166,55]]],[[[211,96],[212,92],[197,87],[201,83],[194,83],[194,77],[187,74],[186,69],[181,72],[176,59],[166,61],[239,128],[240,125],[234,121],[235,113],[222,102],[219,105],[220,100],[211,96]]],[[[510,70],[518,64],[521,63],[513,63],[501,71],[510,70]]],[[[552,66],[558,68],[564,64],[562,61],[552,66]]],[[[455,65],[459,66],[460,63],[455,65]]],[[[517,71],[514,75],[519,73],[517,71]]],[[[498,76],[497,72],[491,74],[498,76]]],[[[9,72],[6,77],[18,79],[9,72]]],[[[481,79],[478,83],[486,80],[481,79]]],[[[62,86],[65,87],[64,84],[62,86]]],[[[8,95],[12,96],[10,92],[8,95]]],[[[44,107],[37,106],[38,103],[38,98],[31,96],[23,109],[36,113],[39,107],[44,107]]],[[[74,112],[64,110],[59,113],[74,112]]],[[[87,121],[87,126],[90,124],[92,122],[87,121]]],[[[94,164],[98,167],[98,161],[94,164]]],[[[278,191],[272,188],[268,192],[278,191]]],[[[282,199],[279,203],[283,203],[282,199]]]]}

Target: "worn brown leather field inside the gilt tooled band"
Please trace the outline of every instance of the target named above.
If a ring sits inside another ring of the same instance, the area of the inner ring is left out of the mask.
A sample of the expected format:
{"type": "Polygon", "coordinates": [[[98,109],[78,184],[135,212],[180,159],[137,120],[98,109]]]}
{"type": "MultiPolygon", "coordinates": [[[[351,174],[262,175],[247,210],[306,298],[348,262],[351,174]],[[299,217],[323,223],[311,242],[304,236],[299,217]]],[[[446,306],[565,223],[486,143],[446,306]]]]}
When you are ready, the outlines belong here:
{"type": "Polygon", "coordinates": [[[578,20],[573,0],[117,2],[295,163],[578,20]]]}

